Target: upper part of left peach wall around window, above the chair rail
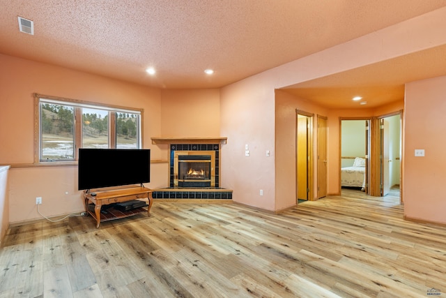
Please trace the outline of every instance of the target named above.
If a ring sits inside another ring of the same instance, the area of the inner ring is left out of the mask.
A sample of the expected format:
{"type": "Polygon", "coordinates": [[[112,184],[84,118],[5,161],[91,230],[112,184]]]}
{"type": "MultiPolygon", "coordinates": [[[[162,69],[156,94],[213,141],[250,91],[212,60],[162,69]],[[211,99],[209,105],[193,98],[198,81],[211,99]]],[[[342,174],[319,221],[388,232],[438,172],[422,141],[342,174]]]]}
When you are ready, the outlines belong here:
{"type": "Polygon", "coordinates": [[[160,133],[159,89],[3,54],[0,65],[0,135],[8,140],[0,144],[0,164],[33,163],[33,93],[143,108],[144,148],[151,147],[149,136],[160,133]]]}

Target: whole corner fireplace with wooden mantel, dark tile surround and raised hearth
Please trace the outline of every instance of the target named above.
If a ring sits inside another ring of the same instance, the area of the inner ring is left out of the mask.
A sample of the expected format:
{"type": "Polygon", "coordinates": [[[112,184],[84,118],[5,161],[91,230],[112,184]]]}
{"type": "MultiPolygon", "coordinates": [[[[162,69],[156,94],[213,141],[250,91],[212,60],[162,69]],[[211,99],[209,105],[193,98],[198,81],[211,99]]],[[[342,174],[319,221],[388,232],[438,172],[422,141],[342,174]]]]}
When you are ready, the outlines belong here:
{"type": "Polygon", "coordinates": [[[169,186],[153,191],[154,199],[231,200],[232,191],[220,188],[220,141],[158,139],[169,142],[169,186]],[[177,142],[174,142],[177,141],[177,142]],[[179,142],[178,142],[179,141],[179,142]]]}

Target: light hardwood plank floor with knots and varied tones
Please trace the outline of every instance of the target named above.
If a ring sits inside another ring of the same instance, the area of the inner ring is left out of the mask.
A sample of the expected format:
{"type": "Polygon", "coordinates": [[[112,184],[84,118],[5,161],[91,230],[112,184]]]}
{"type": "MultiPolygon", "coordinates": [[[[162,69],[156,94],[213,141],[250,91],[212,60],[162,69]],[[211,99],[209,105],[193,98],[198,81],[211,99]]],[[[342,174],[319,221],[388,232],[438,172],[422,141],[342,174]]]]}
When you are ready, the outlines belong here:
{"type": "Polygon", "coordinates": [[[151,214],[11,228],[0,297],[446,295],[446,228],[404,221],[392,195],[343,191],[279,215],[155,201],[151,214]]]}

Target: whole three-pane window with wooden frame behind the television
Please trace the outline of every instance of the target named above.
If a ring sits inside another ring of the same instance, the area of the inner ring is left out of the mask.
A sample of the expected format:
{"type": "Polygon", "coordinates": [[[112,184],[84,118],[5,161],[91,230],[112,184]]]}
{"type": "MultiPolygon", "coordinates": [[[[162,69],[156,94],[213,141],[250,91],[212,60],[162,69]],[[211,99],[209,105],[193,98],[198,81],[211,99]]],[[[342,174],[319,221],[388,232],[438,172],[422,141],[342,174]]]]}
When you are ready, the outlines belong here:
{"type": "Polygon", "coordinates": [[[34,98],[37,162],[77,161],[79,148],[141,148],[141,109],[39,94],[34,98]]]}

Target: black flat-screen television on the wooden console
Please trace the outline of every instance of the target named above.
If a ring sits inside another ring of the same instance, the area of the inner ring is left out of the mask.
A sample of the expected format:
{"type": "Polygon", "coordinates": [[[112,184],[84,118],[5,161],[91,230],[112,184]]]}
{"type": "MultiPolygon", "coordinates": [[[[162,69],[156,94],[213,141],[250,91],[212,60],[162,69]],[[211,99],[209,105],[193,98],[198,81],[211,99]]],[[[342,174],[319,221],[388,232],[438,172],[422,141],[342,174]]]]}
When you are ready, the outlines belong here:
{"type": "Polygon", "coordinates": [[[150,149],[79,149],[78,189],[150,182],[150,149]]]}

